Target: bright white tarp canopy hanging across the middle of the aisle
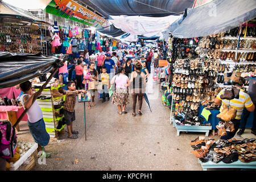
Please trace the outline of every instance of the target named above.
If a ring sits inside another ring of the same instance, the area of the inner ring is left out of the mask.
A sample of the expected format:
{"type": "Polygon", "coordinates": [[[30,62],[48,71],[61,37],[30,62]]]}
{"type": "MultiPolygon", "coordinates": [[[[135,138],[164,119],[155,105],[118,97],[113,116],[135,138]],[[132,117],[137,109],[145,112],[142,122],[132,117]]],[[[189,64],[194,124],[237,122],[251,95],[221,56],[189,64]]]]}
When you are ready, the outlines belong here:
{"type": "MultiPolygon", "coordinates": [[[[181,15],[180,15],[181,16],[181,15]]],[[[166,30],[180,16],[170,15],[165,17],[147,17],[147,16],[111,16],[109,22],[115,27],[132,35],[154,36],[166,30]]]]}

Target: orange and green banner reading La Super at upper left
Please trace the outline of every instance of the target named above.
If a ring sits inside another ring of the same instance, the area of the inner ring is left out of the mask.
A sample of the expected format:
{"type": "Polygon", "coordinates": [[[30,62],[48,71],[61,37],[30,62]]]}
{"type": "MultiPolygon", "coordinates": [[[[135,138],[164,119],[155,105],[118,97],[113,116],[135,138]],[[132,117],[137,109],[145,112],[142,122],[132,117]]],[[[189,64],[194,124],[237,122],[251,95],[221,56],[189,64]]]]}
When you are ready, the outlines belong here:
{"type": "Polygon", "coordinates": [[[72,0],[52,0],[44,11],[97,28],[106,22],[101,16],[72,0]]]}

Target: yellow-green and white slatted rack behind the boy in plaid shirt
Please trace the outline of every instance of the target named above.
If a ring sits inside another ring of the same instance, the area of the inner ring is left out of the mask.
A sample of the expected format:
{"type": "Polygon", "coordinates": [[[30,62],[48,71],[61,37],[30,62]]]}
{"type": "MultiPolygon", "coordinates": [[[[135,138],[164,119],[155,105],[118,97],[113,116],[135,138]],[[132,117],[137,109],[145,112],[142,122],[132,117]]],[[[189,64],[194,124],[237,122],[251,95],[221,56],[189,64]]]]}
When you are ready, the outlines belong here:
{"type": "MultiPolygon", "coordinates": [[[[61,86],[58,85],[57,87],[51,87],[48,89],[44,89],[42,91],[41,96],[46,96],[50,99],[48,99],[48,100],[37,99],[36,100],[43,112],[43,119],[44,119],[44,123],[46,124],[46,131],[52,140],[56,140],[59,138],[59,132],[61,130],[63,130],[63,128],[65,126],[65,125],[63,125],[61,127],[61,129],[57,129],[57,125],[58,125],[59,121],[64,117],[64,115],[62,115],[62,117],[59,117],[59,116],[56,116],[56,114],[55,114],[55,113],[60,114],[60,109],[63,108],[63,101],[65,100],[64,95],[62,95],[61,97],[56,97],[56,98],[53,97],[53,90],[62,88],[63,86],[64,85],[61,85],[61,86]],[[55,109],[56,105],[62,105],[62,106],[59,107],[58,109],[57,108],[55,109]]],[[[35,89],[35,90],[39,90],[39,89],[35,89]]]]}

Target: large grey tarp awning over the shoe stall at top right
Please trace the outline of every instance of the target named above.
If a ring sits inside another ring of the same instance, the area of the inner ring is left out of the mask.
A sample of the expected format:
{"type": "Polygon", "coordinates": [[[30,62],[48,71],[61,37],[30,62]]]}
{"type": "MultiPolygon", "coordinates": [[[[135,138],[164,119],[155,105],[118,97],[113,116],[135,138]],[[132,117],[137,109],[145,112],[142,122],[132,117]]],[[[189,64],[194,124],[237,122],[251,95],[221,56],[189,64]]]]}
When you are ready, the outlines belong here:
{"type": "Polygon", "coordinates": [[[196,38],[218,34],[256,18],[255,0],[214,0],[187,11],[184,20],[168,28],[176,38],[196,38]]]}

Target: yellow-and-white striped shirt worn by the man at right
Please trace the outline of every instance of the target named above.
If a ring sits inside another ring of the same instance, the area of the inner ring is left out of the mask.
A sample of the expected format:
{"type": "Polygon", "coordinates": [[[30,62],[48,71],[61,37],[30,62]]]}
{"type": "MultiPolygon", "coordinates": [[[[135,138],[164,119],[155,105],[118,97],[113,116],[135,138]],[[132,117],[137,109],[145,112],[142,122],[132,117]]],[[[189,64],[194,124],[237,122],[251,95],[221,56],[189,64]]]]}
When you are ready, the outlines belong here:
{"type": "Polygon", "coordinates": [[[232,107],[234,107],[236,110],[237,110],[237,115],[236,115],[236,118],[235,119],[241,119],[241,115],[242,115],[242,112],[243,112],[243,108],[244,107],[250,107],[253,105],[253,102],[251,101],[251,97],[249,96],[249,94],[245,93],[242,89],[240,89],[240,92],[239,92],[239,98],[234,98],[233,100],[222,100],[220,98],[220,96],[222,94],[224,94],[224,90],[225,89],[222,89],[220,93],[218,93],[217,95],[217,98],[219,100],[221,100],[222,102],[222,105],[221,105],[221,108],[220,108],[220,112],[222,111],[223,109],[223,105],[230,105],[232,107]]]}

